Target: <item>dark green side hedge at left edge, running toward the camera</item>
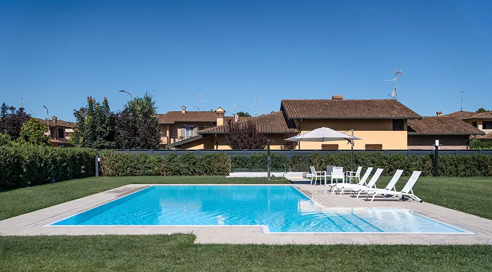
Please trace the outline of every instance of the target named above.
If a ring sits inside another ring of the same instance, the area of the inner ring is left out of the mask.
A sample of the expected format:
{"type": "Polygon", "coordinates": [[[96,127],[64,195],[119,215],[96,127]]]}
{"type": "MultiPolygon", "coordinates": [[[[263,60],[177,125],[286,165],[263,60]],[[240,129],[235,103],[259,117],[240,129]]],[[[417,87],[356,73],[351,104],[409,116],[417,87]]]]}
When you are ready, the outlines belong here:
{"type": "Polygon", "coordinates": [[[0,146],[0,190],[94,176],[94,158],[90,148],[0,146]]]}

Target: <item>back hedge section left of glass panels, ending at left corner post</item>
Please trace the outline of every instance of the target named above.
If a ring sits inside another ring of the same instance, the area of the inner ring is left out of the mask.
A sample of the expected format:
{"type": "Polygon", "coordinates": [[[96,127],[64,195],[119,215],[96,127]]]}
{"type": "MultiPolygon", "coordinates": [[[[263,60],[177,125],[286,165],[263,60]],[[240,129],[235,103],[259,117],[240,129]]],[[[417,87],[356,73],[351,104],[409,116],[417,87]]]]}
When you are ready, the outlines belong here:
{"type": "Polygon", "coordinates": [[[171,153],[166,157],[148,154],[126,154],[112,150],[99,154],[100,174],[103,176],[194,176],[228,175],[231,164],[224,153],[196,157],[186,153],[181,157],[171,153]]]}

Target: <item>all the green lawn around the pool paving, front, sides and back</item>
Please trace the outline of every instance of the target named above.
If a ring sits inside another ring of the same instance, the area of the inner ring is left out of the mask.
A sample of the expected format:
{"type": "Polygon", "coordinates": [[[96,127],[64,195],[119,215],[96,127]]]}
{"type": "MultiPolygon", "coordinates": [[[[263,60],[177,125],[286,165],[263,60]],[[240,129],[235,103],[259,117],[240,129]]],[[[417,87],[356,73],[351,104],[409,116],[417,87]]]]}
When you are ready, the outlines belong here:
{"type": "MultiPolygon", "coordinates": [[[[401,178],[397,188],[407,179],[401,178]]],[[[382,177],[378,188],[389,180],[382,177]]],[[[0,219],[130,183],[266,182],[208,176],[72,180],[0,192],[0,219]]],[[[492,178],[421,177],[414,189],[424,201],[492,218],[492,178]]],[[[197,245],[194,238],[0,237],[0,271],[492,271],[492,246],[487,245],[197,245]]]]}

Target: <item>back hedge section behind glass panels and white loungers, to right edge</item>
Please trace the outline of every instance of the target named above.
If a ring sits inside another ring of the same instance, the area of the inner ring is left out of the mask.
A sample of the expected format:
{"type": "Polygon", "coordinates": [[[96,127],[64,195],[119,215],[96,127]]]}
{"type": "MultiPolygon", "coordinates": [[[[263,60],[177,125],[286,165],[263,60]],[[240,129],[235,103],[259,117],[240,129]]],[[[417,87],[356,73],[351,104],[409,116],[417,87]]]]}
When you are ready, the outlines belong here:
{"type": "MultiPolygon", "coordinates": [[[[344,169],[350,168],[350,154],[328,154],[322,155],[313,153],[309,156],[296,154],[292,159],[287,159],[282,154],[272,154],[272,171],[291,171],[307,172],[309,165],[317,170],[326,169],[327,165],[343,166],[344,169]]],[[[248,171],[266,171],[266,154],[252,154],[248,157],[234,155],[232,157],[232,169],[246,168],[248,171]]],[[[434,174],[434,156],[426,155],[422,157],[406,156],[404,154],[384,153],[354,153],[354,168],[363,166],[363,171],[367,167],[384,168],[383,175],[393,175],[397,169],[402,169],[404,175],[410,175],[412,171],[422,171],[422,176],[432,176],[434,174]]],[[[469,177],[469,176],[492,176],[492,156],[489,155],[440,155],[439,156],[439,175],[469,177]]]]}

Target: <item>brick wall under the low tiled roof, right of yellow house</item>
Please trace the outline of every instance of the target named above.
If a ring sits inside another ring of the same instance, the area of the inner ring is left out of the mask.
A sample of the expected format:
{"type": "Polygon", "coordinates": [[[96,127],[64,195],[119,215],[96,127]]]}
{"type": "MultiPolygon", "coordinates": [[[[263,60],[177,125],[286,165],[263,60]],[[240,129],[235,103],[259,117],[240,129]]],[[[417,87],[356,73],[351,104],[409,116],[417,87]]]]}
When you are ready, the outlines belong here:
{"type": "Polygon", "coordinates": [[[430,150],[435,140],[439,140],[439,149],[467,149],[469,139],[467,135],[409,135],[408,149],[430,150]]]}

